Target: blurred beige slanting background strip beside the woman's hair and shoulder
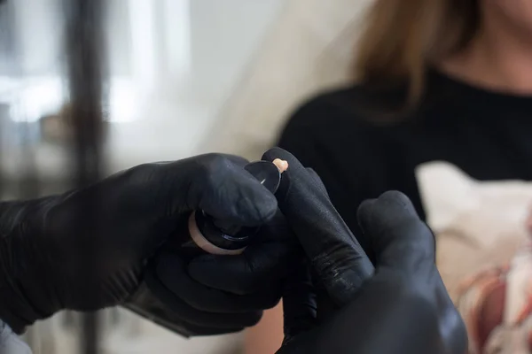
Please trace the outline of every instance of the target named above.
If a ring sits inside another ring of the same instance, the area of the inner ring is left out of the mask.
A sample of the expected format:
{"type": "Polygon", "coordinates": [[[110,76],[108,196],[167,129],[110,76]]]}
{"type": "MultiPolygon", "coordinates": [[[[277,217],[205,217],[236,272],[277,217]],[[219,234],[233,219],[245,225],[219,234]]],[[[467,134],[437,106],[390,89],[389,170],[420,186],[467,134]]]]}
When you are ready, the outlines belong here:
{"type": "Polygon", "coordinates": [[[293,0],[256,53],[201,150],[260,158],[293,109],[349,81],[370,0],[293,0]]]}

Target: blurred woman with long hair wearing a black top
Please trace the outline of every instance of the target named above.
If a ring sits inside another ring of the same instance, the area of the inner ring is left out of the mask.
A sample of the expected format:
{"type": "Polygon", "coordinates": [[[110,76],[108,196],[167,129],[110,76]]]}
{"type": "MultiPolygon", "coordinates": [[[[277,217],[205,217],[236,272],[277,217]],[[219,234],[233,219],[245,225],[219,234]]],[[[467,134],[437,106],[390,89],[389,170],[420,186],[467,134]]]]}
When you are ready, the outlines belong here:
{"type": "MultiPolygon", "coordinates": [[[[375,260],[356,208],[397,189],[425,219],[419,166],[446,161],[474,180],[532,181],[530,53],[532,3],[526,0],[377,0],[356,49],[356,84],[302,104],[278,144],[316,170],[375,260]]],[[[478,251],[467,239],[457,242],[478,251]]],[[[488,352],[506,315],[504,296],[485,317],[465,316],[474,322],[471,353],[488,352]]],[[[525,323],[530,312],[523,313],[525,323]]],[[[517,340],[527,338],[532,352],[532,334],[517,340]]],[[[497,350],[511,351],[511,342],[497,350]]]]}

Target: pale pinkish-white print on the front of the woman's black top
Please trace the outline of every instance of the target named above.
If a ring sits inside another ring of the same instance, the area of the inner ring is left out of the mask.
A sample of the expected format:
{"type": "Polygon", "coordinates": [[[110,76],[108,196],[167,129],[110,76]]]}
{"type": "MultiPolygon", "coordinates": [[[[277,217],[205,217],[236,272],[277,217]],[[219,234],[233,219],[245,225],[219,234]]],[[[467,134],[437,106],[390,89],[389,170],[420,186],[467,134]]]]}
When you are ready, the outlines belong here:
{"type": "Polygon", "coordinates": [[[442,162],[417,176],[469,353],[532,353],[532,183],[474,181],[442,162]]]}

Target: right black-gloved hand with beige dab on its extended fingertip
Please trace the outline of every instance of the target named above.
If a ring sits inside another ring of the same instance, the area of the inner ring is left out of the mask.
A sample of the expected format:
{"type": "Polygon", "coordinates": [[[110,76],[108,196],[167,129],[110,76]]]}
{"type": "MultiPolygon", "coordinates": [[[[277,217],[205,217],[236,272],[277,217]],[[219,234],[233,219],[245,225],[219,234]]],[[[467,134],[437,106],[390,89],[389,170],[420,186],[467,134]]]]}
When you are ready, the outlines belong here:
{"type": "Polygon", "coordinates": [[[279,208],[304,249],[286,283],[286,338],[278,354],[463,354],[465,326],[435,266],[434,236],[399,192],[364,202],[358,219],[370,260],[334,210],[316,174],[284,150],[265,159],[290,165],[279,208]]]}

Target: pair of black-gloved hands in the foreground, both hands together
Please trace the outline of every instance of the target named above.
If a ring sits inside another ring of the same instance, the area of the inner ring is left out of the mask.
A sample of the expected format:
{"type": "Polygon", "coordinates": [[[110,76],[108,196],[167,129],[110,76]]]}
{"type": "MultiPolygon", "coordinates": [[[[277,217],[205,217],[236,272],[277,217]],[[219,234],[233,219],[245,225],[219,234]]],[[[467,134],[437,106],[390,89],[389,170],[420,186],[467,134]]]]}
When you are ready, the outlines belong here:
{"type": "MultiPolygon", "coordinates": [[[[272,218],[279,206],[290,226],[286,230],[293,229],[327,291],[315,292],[306,266],[290,267],[295,272],[284,287],[287,326],[281,353],[464,350],[463,323],[434,266],[434,238],[408,198],[388,193],[359,211],[380,255],[373,274],[370,259],[334,210],[317,174],[284,150],[270,150],[263,158],[284,158],[293,166],[281,183],[279,203],[242,168],[245,160],[222,155],[140,165],[63,196],[4,203],[0,317],[20,333],[36,319],[65,308],[90,311],[127,302],[141,281],[145,259],[154,257],[160,281],[174,294],[165,304],[182,325],[196,332],[201,327],[204,335],[253,325],[260,317],[257,309],[276,297],[268,289],[246,290],[268,283],[275,273],[269,269],[272,263],[282,267],[275,276],[288,268],[282,247],[262,243],[244,258],[203,255],[181,269],[178,253],[168,253],[164,246],[183,220],[180,216],[195,208],[256,226],[272,218]],[[105,215],[99,215],[103,219],[96,225],[83,224],[76,212],[94,194],[102,198],[99,206],[105,215]],[[98,264],[88,258],[93,253],[87,247],[96,251],[98,264]],[[159,247],[166,254],[154,255],[159,247]],[[396,252],[405,247],[411,250],[408,254],[396,252]],[[94,271],[96,282],[87,276],[94,271]],[[417,284],[415,289],[412,284],[417,284]],[[221,287],[225,291],[216,290],[221,287]],[[239,296],[231,296],[229,289],[239,296]],[[340,310],[331,312],[316,299],[340,310]],[[326,316],[327,324],[315,323],[316,316],[326,316]],[[413,326],[410,334],[398,326],[403,321],[413,326]],[[383,328],[390,330],[383,333],[383,328]]],[[[292,255],[292,262],[299,260],[292,255]]],[[[0,349],[29,352],[4,324],[0,349]]]]}

